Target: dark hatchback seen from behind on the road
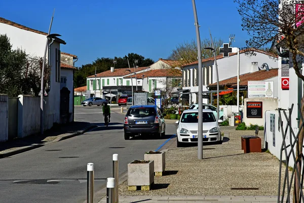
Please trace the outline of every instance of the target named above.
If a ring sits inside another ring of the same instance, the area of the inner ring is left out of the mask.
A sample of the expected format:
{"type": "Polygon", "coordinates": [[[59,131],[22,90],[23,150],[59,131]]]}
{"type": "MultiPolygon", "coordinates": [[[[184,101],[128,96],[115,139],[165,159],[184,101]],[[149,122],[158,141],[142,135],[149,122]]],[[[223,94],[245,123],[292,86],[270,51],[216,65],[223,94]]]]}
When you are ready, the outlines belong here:
{"type": "Polygon", "coordinates": [[[157,138],[163,138],[165,131],[164,115],[158,106],[132,106],[125,116],[125,140],[138,134],[154,134],[157,138]]]}

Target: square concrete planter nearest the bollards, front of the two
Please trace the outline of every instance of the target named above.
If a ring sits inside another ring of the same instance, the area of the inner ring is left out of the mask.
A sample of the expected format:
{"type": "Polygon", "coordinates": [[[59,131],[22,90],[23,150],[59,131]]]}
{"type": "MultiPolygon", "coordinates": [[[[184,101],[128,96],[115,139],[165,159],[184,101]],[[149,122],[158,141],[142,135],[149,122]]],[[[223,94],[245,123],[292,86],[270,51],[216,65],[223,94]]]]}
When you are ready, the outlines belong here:
{"type": "Polygon", "coordinates": [[[141,186],[141,190],[150,190],[150,185],[154,183],[154,161],[132,162],[128,163],[128,190],[136,190],[136,186],[141,186]]]}

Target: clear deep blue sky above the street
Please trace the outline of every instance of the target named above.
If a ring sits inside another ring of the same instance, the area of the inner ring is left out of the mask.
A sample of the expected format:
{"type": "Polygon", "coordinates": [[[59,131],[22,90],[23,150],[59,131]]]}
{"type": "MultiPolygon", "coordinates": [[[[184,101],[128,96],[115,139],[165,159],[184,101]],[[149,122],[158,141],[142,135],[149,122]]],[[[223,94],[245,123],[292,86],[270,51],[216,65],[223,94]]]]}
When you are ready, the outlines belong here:
{"type": "MultiPolygon", "coordinates": [[[[244,47],[249,38],[233,0],[197,0],[201,39],[214,38],[244,47]]],[[[157,61],[185,41],[196,39],[191,0],[15,0],[0,1],[0,17],[47,32],[53,9],[51,33],[67,43],[62,52],[75,54],[75,66],[97,57],[123,57],[137,53],[157,61]],[[47,2],[51,2],[47,4],[47,2]]]]}

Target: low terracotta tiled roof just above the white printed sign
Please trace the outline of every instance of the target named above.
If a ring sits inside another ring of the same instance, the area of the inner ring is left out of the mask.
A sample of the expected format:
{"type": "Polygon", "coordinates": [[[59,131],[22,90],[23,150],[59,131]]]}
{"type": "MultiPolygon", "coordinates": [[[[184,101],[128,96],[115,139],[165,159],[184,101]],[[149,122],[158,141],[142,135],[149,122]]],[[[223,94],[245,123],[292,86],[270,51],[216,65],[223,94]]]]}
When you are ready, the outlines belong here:
{"type": "MultiPolygon", "coordinates": [[[[267,80],[278,76],[278,69],[270,69],[269,71],[261,70],[254,73],[246,73],[240,75],[240,86],[247,86],[248,81],[260,81],[267,80]]],[[[219,85],[231,85],[232,87],[237,86],[237,77],[228,78],[218,82],[219,85]]],[[[216,82],[209,85],[209,87],[216,86],[216,82]]]]}

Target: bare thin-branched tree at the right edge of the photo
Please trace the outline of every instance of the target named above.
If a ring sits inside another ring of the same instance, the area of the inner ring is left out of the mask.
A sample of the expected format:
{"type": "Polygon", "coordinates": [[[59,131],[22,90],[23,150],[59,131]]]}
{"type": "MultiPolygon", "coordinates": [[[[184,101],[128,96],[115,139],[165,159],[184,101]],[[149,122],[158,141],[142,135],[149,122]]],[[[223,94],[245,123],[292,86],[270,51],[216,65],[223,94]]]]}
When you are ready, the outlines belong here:
{"type": "MultiPolygon", "coordinates": [[[[304,81],[301,64],[304,59],[304,26],[303,12],[296,11],[296,4],[303,5],[303,0],[234,0],[239,6],[238,11],[242,18],[242,27],[250,36],[246,41],[247,48],[259,49],[271,43],[277,47],[277,53],[282,57],[291,57],[293,70],[299,79],[304,81]],[[280,5],[281,3],[281,5],[280,5]],[[282,50],[285,49],[285,51],[282,50]]],[[[290,69],[292,71],[292,69],[290,69]]],[[[301,99],[301,113],[304,113],[304,97],[301,99]]],[[[299,120],[301,126],[303,120],[299,120]]],[[[296,143],[295,164],[300,173],[302,168],[302,146],[304,129],[299,132],[296,143]]],[[[303,172],[302,172],[303,173],[303,172]]],[[[294,176],[293,202],[301,201],[301,180],[294,176]]]]}

